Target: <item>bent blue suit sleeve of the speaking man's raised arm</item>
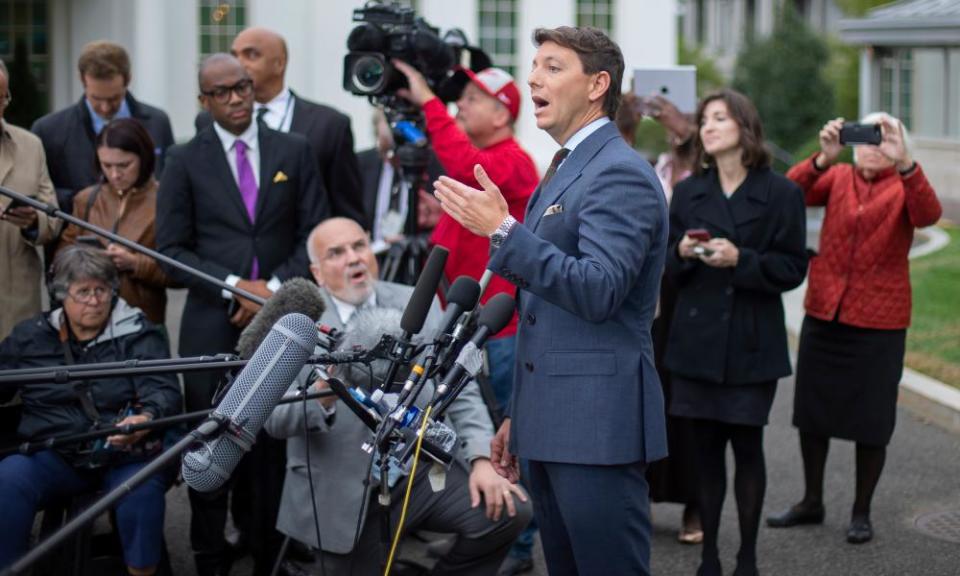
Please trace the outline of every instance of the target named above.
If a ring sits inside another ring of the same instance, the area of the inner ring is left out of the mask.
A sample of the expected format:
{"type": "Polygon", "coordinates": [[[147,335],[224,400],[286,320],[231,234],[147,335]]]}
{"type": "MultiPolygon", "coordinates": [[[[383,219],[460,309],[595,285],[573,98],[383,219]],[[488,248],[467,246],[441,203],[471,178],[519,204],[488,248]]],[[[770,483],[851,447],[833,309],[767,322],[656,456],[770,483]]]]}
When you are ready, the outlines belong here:
{"type": "Polygon", "coordinates": [[[665,225],[662,194],[638,166],[626,162],[609,166],[583,185],[577,254],[566,254],[518,225],[489,268],[505,278],[521,276],[518,284],[524,290],[600,323],[618,313],[665,225]]]}

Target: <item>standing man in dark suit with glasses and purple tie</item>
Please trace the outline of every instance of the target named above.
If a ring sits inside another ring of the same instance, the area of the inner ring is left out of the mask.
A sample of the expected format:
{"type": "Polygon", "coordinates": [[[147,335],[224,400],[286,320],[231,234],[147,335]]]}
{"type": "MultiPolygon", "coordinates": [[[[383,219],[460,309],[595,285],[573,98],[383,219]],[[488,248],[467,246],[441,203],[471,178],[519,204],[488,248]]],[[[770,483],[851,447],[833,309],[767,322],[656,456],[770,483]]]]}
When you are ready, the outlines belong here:
{"type": "MultiPolygon", "coordinates": [[[[310,146],[302,136],[253,121],[253,82],[233,56],[216,54],[201,64],[200,102],[214,123],[190,142],[170,149],[157,196],[157,247],[184,264],[268,298],[282,280],[309,276],[307,236],[327,216],[327,198],[310,146]]],[[[240,329],[259,306],[177,269],[168,268],[167,273],[190,289],[180,354],[233,350],[240,329]]],[[[185,376],[187,410],[209,408],[216,385],[216,376],[185,376]]],[[[259,475],[251,484],[250,498],[234,498],[245,501],[250,514],[238,518],[234,507],[241,530],[270,530],[263,538],[250,534],[257,574],[269,573],[279,542],[269,527],[276,521],[284,465],[282,443],[265,444],[258,441],[234,475],[241,485],[251,478],[248,474],[259,475]]],[[[223,538],[226,492],[211,498],[191,490],[190,502],[198,572],[222,573],[228,564],[223,538]]]]}

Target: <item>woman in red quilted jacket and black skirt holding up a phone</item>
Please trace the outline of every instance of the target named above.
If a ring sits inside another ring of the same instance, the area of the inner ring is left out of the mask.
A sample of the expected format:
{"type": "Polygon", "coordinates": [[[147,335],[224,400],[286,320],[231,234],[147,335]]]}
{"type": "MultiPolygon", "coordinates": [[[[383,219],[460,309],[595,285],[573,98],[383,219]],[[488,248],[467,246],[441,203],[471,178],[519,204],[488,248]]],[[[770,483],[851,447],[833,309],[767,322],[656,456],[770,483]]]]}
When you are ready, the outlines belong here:
{"type": "Polygon", "coordinates": [[[767,524],[820,524],[823,472],[830,438],[857,444],[856,499],[847,541],[873,537],[870,501],[896,423],[897,388],[910,324],[907,255],[915,228],[940,218],[941,207],[910,155],[903,124],[884,113],[878,146],[854,149],[854,165],[834,164],[842,119],[820,131],[820,152],[787,176],[808,206],[826,206],[819,255],[810,261],[800,333],[793,424],[800,432],[803,500],[767,524]]]}

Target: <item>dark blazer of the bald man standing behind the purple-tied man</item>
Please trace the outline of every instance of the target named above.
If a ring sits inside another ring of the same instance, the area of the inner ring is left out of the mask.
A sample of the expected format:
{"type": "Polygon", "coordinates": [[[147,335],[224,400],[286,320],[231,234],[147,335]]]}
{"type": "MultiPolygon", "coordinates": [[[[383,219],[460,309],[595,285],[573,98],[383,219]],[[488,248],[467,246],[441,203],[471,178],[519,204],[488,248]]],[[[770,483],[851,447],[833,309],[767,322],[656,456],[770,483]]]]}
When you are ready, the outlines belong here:
{"type": "MultiPolygon", "coordinates": [[[[317,159],[321,183],[330,199],[330,215],[343,216],[370,229],[361,195],[360,168],[353,152],[350,117],[329,106],[304,100],[293,94],[293,118],[290,132],[302,134],[317,159]]],[[[201,112],[194,120],[197,132],[209,126],[210,114],[201,112]]]]}

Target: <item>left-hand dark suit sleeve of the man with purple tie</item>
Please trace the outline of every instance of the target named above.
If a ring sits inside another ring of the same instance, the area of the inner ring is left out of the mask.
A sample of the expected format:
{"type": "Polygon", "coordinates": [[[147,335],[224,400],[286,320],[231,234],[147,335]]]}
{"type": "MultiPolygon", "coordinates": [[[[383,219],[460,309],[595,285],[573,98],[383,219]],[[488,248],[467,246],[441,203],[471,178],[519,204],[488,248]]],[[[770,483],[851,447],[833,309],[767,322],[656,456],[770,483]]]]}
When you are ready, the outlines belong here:
{"type": "MultiPolygon", "coordinates": [[[[200,258],[195,252],[197,238],[193,184],[181,158],[184,152],[186,149],[174,147],[167,153],[167,166],[157,191],[157,250],[187,266],[225,280],[231,274],[230,270],[215,261],[200,258]]],[[[220,288],[210,282],[172,266],[162,266],[177,283],[220,297],[220,288]]]]}

